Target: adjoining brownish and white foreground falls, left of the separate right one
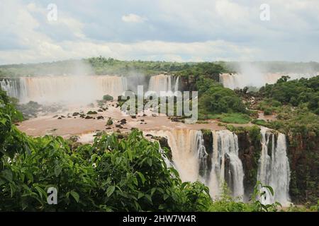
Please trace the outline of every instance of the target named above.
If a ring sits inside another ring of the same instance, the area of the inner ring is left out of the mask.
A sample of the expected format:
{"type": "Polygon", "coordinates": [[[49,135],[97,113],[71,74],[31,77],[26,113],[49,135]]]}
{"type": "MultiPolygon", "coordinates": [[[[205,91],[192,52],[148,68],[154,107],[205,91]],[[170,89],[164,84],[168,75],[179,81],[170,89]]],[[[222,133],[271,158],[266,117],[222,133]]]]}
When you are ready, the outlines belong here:
{"type": "Polygon", "coordinates": [[[208,153],[201,131],[174,129],[172,131],[147,131],[153,136],[167,138],[172,150],[172,164],[181,181],[200,181],[210,188],[211,196],[218,198],[225,181],[234,197],[244,195],[244,171],[238,157],[238,141],[230,131],[213,131],[213,156],[210,171],[208,153]]]}

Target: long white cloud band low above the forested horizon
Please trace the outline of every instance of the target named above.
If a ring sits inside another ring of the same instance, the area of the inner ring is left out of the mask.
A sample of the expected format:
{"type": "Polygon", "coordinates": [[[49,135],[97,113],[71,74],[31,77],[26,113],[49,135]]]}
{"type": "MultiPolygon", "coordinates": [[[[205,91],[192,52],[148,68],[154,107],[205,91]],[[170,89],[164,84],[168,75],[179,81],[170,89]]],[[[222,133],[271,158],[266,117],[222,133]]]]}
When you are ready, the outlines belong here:
{"type": "Polygon", "coordinates": [[[19,50],[19,52],[2,51],[0,62],[11,64],[55,61],[96,57],[99,55],[125,60],[250,60],[250,56],[258,54],[258,52],[259,49],[237,46],[224,41],[191,43],[143,41],[124,44],[121,42],[96,43],[86,40],[78,42],[42,42],[33,49],[19,50]]]}

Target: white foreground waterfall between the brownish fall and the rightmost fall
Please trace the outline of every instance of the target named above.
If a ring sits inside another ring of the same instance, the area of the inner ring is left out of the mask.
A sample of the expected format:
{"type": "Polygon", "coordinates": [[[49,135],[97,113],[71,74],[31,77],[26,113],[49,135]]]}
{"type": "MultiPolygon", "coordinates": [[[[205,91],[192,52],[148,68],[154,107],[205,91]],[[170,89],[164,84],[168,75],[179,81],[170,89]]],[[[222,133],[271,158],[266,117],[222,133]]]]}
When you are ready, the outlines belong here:
{"type": "Polygon", "coordinates": [[[238,157],[237,135],[230,131],[213,131],[213,155],[211,175],[208,183],[213,198],[223,191],[223,183],[228,182],[233,197],[244,195],[244,170],[238,157]],[[226,167],[226,162],[229,166],[226,167]]]}

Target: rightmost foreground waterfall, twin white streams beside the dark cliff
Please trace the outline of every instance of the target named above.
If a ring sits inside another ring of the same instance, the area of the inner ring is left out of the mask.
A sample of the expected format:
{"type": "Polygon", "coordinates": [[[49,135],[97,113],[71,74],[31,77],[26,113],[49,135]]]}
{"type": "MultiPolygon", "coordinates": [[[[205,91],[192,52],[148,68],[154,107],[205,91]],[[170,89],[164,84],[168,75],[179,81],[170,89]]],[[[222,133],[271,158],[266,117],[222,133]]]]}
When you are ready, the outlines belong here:
{"type": "Polygon", "coordinates": [[[275,134],[272,131],[262,128],[261,133],[262,154],[259,159],[257,179],[274,189],[274,196],[267,191],[264,203],[279,201],[282,205],[287,205],[290,201],[290,168],[286,153],[286,136],[279,133],[275,143],[275,134]]]}

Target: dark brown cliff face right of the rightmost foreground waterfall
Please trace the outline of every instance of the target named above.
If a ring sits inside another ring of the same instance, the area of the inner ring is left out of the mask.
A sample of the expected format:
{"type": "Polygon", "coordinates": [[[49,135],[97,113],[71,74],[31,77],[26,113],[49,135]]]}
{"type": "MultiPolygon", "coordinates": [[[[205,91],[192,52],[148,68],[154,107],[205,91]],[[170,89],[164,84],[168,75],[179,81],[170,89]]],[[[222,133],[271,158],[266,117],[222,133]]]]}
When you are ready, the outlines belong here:
{"type": "Polygon", "coordinates": [[[316,203],[319,197],[319,136],[288,134],[291,167],[289,193],[293,203],[316,203]]]}

